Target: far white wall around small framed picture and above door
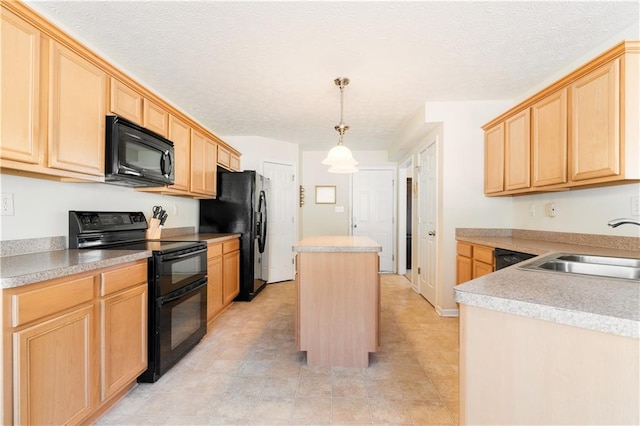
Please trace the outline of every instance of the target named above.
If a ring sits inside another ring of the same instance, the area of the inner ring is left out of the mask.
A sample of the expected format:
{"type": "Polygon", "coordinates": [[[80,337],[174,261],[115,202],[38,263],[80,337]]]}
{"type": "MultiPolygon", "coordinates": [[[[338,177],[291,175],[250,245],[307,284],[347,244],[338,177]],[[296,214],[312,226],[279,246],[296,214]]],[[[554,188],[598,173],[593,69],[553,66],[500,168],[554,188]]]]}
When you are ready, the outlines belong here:
{"type": "MultiPolygon", "coordinates": [[[[300,208],[301,235],[306,238],[317,235],[349,235],[351,222],[351,175],[329,173],[328,166],[320,162],[327,151],[303,151],[301,154],[300,185],[305,189],[305,204],[300,208]],[[316,185],[335,185],[336,204],[316,204],[316,185]],[[336,207],[343,207],[336,212],[336,207]]],[[[353,151],[360,163],[358,168],[394,167],[395,162],[387,160],[386,151],[353,151]]]]}

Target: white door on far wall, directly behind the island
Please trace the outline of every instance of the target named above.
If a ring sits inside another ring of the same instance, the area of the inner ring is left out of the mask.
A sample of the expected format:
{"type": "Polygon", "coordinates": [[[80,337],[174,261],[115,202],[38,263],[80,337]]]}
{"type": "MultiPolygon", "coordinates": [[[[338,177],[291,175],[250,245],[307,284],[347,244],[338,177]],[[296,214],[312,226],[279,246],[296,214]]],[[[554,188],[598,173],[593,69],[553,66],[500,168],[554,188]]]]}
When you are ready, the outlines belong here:
{"type": "Polygon", "coordinates": [[[352,234],[382,246],[380,272],[394,272],[393,170],[360,170],[353,174],[352,234]]]}

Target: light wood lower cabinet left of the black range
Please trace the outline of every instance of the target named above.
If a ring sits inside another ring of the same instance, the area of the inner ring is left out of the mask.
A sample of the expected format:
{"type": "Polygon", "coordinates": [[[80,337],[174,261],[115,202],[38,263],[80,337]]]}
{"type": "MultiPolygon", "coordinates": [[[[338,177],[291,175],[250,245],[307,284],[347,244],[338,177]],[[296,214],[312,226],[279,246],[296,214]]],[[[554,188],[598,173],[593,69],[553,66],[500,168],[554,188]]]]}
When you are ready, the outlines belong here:
{"type": "Polygon", "coordinates": [[[147,261],[3,291],[2,424],[90,423],[147,368],[147,261]]]}

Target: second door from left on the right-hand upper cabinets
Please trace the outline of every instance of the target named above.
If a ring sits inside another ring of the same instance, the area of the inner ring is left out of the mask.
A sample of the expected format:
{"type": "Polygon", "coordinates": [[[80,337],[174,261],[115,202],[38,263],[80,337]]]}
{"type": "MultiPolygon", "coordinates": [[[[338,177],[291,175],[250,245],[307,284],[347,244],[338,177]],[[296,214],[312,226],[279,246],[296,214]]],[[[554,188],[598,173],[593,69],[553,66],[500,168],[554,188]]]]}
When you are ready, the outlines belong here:
{"type": "Polygon", "coordinates": [[[505,190],[525,189],[531,185],[531,139],[529,108],[509,117],[504,124],[505,190]]]}

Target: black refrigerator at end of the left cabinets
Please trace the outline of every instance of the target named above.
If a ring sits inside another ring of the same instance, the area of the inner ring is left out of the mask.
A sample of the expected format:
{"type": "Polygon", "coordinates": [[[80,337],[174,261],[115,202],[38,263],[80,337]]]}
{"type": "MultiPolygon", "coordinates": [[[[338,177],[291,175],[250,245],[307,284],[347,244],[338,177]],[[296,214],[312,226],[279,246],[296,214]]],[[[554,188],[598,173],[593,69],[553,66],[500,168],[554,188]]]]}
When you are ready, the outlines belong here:
{"type": "Polygon", "coordinates": [[[240,233],[240,293],[250,301],[266,285],[268,179],[254,170],[218,169],[217,195],[200,200],[200,233],[240,233]]]}

